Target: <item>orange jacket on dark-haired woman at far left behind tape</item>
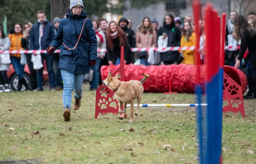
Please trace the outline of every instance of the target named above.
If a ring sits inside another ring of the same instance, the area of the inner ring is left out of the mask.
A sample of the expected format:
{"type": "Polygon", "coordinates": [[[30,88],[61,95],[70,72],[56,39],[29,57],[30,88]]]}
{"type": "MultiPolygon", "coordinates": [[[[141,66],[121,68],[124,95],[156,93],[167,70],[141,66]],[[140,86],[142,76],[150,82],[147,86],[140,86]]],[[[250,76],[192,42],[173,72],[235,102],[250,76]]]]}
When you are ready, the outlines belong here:
{"type": "MultiPolygon", "coordinates": [[[[22,34],[9,34],[9,39],[11,41],[11,46],[10,46],[10,51],[15,51],[15,50],[20,50],[22,49],[21,47],[21,39],[22,39],[22,34]]],[[[10,53],[10,57],[18,57],[20,58],[20,53],[10,53]]]]}

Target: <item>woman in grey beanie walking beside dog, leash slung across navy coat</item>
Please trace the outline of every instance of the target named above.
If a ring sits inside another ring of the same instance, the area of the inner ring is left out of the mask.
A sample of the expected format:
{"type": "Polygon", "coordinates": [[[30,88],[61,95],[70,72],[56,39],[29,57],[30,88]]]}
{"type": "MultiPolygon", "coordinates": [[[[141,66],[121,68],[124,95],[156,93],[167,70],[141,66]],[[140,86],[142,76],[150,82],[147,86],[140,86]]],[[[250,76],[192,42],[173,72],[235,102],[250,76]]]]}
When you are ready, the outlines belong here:
{"type": "Polygon", "coordinates": [[[78,110],[82,100],[82,84],[90,66],[96,64],[97,38],[91,20],[83,11],[82,0],[70,0],[67,17],[59,22],[54,40],[47,47],[54,54],[61,46],[59,69],[63,79],[63,117],[70,121],[72,89],[75,93],[73,110],[78,110]]]}

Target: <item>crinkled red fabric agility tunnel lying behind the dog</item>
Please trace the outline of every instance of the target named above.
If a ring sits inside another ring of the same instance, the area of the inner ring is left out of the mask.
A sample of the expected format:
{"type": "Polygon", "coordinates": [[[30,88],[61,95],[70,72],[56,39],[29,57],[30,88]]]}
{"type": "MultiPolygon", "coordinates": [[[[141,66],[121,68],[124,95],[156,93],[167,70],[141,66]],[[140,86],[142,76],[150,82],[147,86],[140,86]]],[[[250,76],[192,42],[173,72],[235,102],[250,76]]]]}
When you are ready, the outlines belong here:
{"type": "MultiPolygon", "coordinates": [[[[112,73],[119,65],[102,66],[100,69],[101,78],[106,79],[108,72],[112,73]]],[[[204,84],[206,80],[206,66],[200,65],[200,83],[204,84]]],[[[144,65],[124,65],[124,81],[141,80],[142,73],[150,75],[143,83],[145,92],[161,93],[169,91],[169,80],[171,80],[171,89],[179,93],[194,93],[194,84],[197,77],[197,66],[185,64],[171,64],[160,66],[144,65]]],[[[237,84],[242,87],[243,93],[247,89],[247,78],[245,74],[235,67],[224,66],[224,72],[230,76],[237,84]]]]}

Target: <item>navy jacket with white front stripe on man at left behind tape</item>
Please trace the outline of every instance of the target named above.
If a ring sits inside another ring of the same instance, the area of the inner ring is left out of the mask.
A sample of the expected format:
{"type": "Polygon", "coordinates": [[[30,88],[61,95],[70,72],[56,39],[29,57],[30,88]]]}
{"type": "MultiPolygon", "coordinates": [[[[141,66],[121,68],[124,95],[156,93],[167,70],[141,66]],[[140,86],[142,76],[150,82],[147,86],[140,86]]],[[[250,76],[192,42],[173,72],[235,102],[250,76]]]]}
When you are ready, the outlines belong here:
{"type": "Polygon", "coordinates": [[[55,33],[55,27],[47,19],[45,20],[44,25],[37,22],[32,26],[30,31],[30,49],[46,49],[52,42],[55,33]],[[43,31],[39,30],[42,26],[43,31]]]}

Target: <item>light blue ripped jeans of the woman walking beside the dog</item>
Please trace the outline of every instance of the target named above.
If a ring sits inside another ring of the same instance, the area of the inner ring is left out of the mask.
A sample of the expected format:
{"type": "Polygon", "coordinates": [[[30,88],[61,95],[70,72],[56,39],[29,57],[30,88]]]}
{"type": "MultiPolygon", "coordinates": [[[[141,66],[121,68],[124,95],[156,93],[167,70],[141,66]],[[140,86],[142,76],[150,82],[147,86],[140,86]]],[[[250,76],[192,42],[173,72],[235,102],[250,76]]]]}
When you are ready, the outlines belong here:
{"type": "Polygon", "coordinates": [[[71,73],[66,69],[60,69],[63,80],[63,108],[71,109],[72,89],[75,93],[75,98],[82,97],[82,85],[85,74],[71,73]]]}

